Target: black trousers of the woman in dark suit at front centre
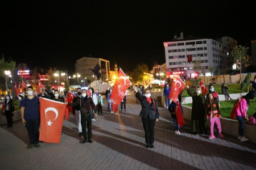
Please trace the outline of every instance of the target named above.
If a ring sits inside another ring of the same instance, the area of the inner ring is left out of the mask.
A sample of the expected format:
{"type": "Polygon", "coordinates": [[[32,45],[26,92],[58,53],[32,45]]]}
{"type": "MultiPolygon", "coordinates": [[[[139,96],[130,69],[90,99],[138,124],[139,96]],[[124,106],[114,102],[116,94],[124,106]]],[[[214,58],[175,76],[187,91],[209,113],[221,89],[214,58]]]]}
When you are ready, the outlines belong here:
{"type": "Polygon", "coordinates": [[[153,144],[155,141],[155,120],[142,117],[145,139],[147,144],[153,144]]]}

